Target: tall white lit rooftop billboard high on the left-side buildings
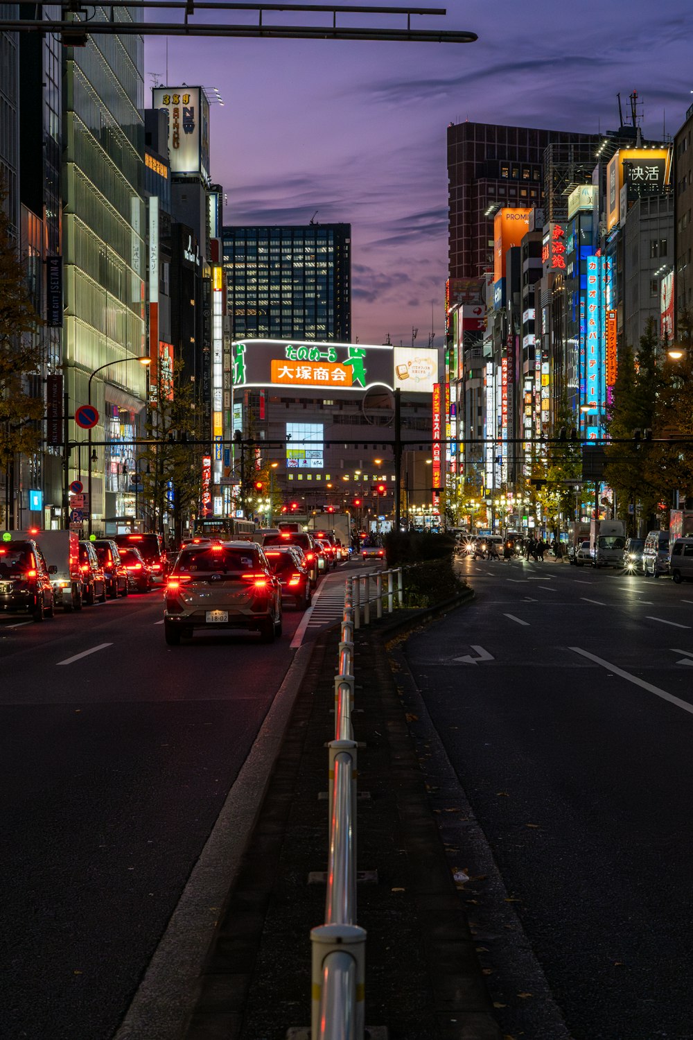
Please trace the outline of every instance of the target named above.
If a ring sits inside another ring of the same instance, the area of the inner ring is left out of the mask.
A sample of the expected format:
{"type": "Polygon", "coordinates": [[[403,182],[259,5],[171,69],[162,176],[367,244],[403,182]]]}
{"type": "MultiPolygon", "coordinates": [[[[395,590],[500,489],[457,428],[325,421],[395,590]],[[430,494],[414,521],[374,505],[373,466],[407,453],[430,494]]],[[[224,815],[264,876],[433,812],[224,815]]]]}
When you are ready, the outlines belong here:
{"type": "Polygon", "coordinates": [[[168,112],[171,174],[209,180],[209,101],[202,86],[157,86],[154,107],[168,112]]]}

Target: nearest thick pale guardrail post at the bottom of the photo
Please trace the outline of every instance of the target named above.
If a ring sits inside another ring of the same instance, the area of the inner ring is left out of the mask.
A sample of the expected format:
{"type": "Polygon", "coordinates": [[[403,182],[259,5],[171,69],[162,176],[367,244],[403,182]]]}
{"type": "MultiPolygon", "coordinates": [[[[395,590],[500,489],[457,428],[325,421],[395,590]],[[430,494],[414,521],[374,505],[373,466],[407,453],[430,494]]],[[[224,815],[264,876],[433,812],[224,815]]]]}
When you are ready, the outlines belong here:
{"type": "MultiPolygon", "coordinates": [[[[311,1036],[320,1040],[324,1033],[320,1030],[321,1019],[334,1021],[327,1013],[325,964],[334,953],[346,953],[353,958],[356,968],[355,1006],[353,1016],[345,1009],[345,1020],[350,1024],[341,1035],[347,1040],[364,1040],[365,996],[366,996],[366,930],[358,925],[319,925],[311,929],[311,1036]],[[324,1014],[322,1009],[324,1008],[324,1014]]],[[[330,1002],[331,1003],[331,1002],[330,1002]]]]}

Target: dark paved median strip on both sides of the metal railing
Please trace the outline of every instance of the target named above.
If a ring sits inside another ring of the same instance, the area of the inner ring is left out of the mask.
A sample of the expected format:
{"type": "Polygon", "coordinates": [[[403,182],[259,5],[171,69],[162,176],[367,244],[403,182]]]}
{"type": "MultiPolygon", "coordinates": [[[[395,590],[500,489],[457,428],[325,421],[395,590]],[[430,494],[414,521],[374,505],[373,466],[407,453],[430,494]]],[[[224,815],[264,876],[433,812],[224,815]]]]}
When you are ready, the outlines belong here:
{"type": "MultiPolygon", "coordinates": [[[[355,633],[358,924],[372,1040],[500,1040],[475,940],[446,859],[387,640],[400,612],[355,633]]],[[[318,638],[185,1040],[309,1037],[310,930],[324,919],[327,750],[339,627],[318,638]],[[293,1029],[292,1029],[293,1028],[293,1029]]]]}

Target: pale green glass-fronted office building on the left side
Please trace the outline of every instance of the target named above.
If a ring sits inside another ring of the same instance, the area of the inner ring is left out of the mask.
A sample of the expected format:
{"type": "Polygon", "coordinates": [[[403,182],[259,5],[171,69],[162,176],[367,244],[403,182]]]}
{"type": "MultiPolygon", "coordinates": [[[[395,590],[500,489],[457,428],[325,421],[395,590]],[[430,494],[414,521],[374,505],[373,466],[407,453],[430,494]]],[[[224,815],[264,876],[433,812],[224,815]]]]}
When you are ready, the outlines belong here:
{"type": "MultiPolygon", "coordinates": [[[[104,18],[136,21],[129,8],[104,18]]],[[[94,528],[123,516],[132,436],[146,400],[144,313],[143,45],[138,35],[98,35],[65,48],[63,152],[63,361],[70,413],[99,411],[95,445],[73,452],[71,479],[91,469],[94,528]],[[129,361],[129,363],[125,363],[129,361]],[[114,364],[118,362],[118,364],[114,364]]],[[[71,423],[71,439],[84,441],[71,423]]],[[[86,482],[85,482],[86,483],[86,482]]]]}

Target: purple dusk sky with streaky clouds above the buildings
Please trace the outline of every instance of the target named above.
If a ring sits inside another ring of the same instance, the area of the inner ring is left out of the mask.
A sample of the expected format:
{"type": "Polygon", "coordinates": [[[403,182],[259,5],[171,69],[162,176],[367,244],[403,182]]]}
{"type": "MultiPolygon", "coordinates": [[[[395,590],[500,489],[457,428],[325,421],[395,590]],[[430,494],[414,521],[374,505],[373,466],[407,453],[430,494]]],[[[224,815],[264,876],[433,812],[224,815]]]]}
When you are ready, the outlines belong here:
{"type": "MultiPolygon", "coordinates": [[[[145,37],[150,99],[157,74],[162,85],[203,85],[211,97],[217,87],[224,102],[211,105],[210,131],[224,224],[315,215],[351,225],[352,338],[362,343],[390,335],[406,345],[412,329],[417,345],[431,333],[443,342],[449,123],[595,133],[617,128],[616,94],[625,113],[635,89],[644,135],[661,138],[693,102],[691,0],[452,0],[447,10],[412,18],[412,27],[467,29],[477,43],[145,37]]],[[[225,21],[252,24],[257,14],[225,21]]],[[[382,15],[338,24],[405,27],[403,16],[382,15]]]]}

